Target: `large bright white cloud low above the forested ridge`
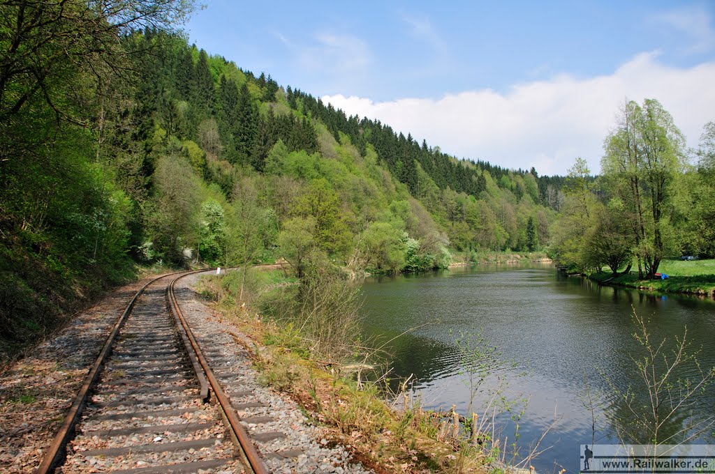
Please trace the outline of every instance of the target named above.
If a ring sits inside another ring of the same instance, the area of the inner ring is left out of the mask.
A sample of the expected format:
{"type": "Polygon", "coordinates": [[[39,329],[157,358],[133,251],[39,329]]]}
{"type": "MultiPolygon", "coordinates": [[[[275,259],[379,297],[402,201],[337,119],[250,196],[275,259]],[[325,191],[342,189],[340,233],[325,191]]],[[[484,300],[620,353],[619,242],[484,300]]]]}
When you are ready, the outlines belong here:
{"type": "Polygon", "coordinates": [[[397,131],[440,146],[445,153],[484,159],[508,168],[535,166],[563,174],[576,156],[600,171],[603,138],[628,98],[658,99],[695,146],[715,119],[715,63],[687,69],[664,66],[656,53],[640,54],[613,74],[575,79],[566,74],[512,86],[449,94],[438,100],[373,102],[323,96],[348,115],[380,119],[397,131]]]}

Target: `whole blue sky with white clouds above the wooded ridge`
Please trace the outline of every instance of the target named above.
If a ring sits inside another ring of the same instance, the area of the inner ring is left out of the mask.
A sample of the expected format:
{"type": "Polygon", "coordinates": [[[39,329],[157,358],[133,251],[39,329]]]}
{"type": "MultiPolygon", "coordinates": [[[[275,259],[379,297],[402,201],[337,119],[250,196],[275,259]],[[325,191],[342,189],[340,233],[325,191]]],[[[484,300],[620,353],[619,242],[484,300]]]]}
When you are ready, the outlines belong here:
{"type": "Polygon", "coordinates": [[[623,100],[659,99],[696,146],[715,120],[715,4],[210,1],[189,39],[243,69],[459,157],[600,169],[623,100]]]}

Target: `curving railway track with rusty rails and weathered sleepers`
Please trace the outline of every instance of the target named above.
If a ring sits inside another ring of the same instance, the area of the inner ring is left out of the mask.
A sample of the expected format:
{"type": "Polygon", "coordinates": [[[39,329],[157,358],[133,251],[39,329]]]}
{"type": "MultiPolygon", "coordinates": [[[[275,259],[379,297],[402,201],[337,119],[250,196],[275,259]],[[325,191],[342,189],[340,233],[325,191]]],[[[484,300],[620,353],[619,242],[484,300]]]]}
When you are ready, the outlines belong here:
{"type": "Polygon", "coordinates": [[[285,455],[270,452],[285,433],[249,437],[244,425],[267,420],[240,420],[237,409],[260,402],[227,394],[231,373],[212,369],[221,353],[204,355],[184,318],[174,284],[191,273],[157,278],[134,296],[38,473],[267,473],[258,451],[285,455]]]}

